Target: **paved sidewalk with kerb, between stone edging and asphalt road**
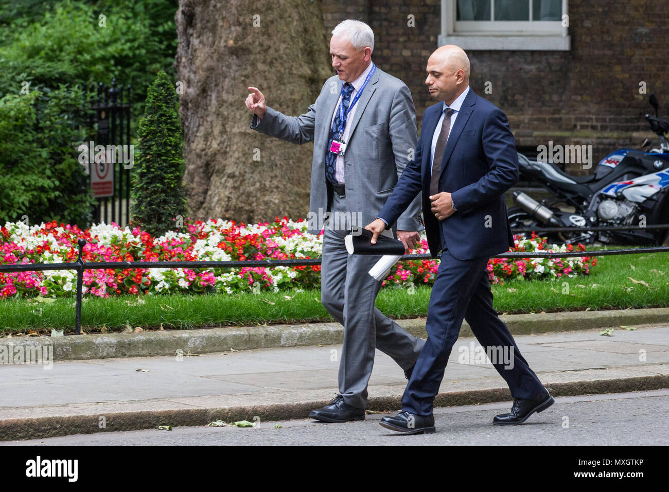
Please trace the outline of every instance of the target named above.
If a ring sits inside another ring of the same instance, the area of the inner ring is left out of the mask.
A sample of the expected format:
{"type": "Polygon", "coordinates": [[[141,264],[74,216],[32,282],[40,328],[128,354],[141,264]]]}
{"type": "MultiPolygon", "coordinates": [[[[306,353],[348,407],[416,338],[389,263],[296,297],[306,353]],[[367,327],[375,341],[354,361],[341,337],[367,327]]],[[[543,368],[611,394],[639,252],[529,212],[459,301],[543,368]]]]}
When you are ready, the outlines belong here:
{"type": "MultiPolygon", "coordinates": [[[[611,337],[588,330],[515,339],[555,396],[669,388],[669,326],[616,329],[611,337]]],[[[510,400],[492,365],[458,362],[460,347],[470,350],[474,342],[461,338],[454,345],[438,406],[510,400]]],[[[216,418],[304,418],[337,392],[340,348],[55,361],[50,370],[1,365],[0,440],[203,425],[216,418]]],[[[368,408],[396,410],[405,386],[402,370],[377,351],[368,408]]]]}

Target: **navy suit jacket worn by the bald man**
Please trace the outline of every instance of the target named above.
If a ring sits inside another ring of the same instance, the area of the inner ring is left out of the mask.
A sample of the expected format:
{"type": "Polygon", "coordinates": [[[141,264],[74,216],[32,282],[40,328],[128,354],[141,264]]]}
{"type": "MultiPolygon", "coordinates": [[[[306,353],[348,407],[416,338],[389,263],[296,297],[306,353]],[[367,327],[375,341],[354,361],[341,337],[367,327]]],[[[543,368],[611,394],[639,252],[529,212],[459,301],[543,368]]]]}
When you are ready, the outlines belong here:
{"type": "Polygon", "coordinates": [[[458,260],[504,253],[514,244],[504,191],[518,181],[518,155],[506,115],[470,88],[448,136],[438,188],[452,193],[458,210],[440,221],[432,213],[429,182],[432,137],[443,108],[439,102],[425,110],[414,159],[405,167],[379,217],[390,228],[423,191],[423,220],[433,257],[447,248],[458,260]]]}

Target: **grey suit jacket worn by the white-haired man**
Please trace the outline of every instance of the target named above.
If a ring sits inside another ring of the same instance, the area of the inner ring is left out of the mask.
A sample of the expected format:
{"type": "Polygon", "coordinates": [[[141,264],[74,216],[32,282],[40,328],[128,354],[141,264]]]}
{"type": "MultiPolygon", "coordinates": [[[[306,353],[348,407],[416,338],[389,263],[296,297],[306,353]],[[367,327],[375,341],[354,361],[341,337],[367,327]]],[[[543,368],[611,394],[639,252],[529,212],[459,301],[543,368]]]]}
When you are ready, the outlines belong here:
{"type": "MultiPolygon", "coordinates": [[[[330,210],[332,191],[325,179],[325,154],[341,84],[337,76],[328,78],[306,114],[286,116],[268,107],[260,122],[255,114],[251,122],[252,129],[271,137],[296,144],[314,142],[308,221],[311,234],[320,232],[322,218],[330,210]]],[[[377,67],[347,125],[353,125],[344,154],[347,212],[355,214],[352,220],[356,226],[365,227],[377,218],[397,178],[413,159],[417,131],[409,88],[377,67]],[[358,224],[358,217],[362,224],[358,224]]],[[[423,230],[420,212],[419,194],[397,220],[397,229],[423,230]]]]}

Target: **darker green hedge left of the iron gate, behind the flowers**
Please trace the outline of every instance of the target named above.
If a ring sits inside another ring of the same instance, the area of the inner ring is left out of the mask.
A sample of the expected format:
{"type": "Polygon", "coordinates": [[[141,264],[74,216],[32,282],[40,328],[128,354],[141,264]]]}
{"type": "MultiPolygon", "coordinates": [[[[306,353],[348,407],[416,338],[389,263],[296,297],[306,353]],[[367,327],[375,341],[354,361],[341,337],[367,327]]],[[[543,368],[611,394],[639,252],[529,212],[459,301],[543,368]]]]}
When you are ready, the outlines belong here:
{"type": "Polygon", "coordinates": [[[84,94],[78,87],[0,98],[0,223],[57,220],[86,227],[94,200],[76,146],[84,94]]]}

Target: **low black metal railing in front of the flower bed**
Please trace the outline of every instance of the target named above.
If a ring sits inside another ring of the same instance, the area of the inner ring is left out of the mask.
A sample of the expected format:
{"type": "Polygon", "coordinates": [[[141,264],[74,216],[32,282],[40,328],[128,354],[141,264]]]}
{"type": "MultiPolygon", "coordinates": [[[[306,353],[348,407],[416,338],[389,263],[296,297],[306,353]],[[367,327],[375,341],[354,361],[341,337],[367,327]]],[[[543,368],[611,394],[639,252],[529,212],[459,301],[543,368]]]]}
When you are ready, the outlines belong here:
{"type": "MultiPolygon", "coordinates": [[[[82,258],[86,240],[78,240],[79,252],[77,260],[68,263],[27,263],[14,265],[0,265],[0,272],[37,272],[43,270],[76,270],[76,315],[75,335],[81,334],[82,319],[82,291],[84,286],[84,270],[99,270],[113,268],[235,268],[238,266],[309,266],[320,264],[320,258],[292,258],[288,260],[233,260],[233,261],[125,261],[125,262],[85,262],[82,258]]],[[[654,246],[650,248],[628,248],[617,250],[546,252],[546,251],[518,251],[496,254],[490,258],[574,258],[579,256],[611,256],[617,254],[641,254],[669,252],[669,246],[654,246]]],[[[432,260],[430,254],[405,254],[400,260],[432,260]]]]}

